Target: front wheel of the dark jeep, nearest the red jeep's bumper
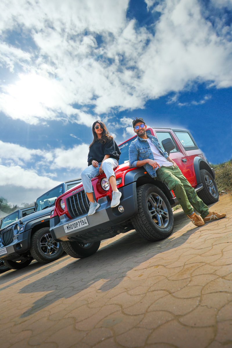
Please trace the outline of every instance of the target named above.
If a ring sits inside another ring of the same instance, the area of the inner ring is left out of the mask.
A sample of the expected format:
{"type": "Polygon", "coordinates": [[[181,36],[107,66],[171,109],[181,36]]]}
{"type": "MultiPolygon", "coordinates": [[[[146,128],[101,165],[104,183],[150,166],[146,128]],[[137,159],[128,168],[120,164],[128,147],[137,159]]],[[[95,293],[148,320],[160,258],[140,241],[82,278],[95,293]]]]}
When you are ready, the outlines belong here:
{"type": "Polygon", "coordinates": [[[33,233],[31,237],[30,253],[36,261],[41,263],[55,261],[59,259],[63,251],[61,243],[57,243],[53,240],[49,227],[40,228],[33,233]],[[51,253],[47,253],[50,247],[51,253]]]}

